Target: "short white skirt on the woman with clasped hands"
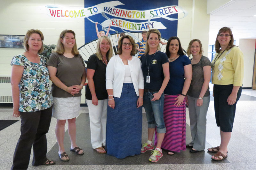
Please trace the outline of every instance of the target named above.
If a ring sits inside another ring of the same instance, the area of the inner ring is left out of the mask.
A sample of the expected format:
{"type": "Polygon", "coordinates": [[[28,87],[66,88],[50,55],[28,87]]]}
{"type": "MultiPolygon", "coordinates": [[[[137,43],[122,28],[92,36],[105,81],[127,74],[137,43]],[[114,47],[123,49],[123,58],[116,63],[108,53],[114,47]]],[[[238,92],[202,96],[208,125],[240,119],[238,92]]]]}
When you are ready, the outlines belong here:
{"type": "Polygon", "coordinates": [[[52,117],[59,120],[73,119],[79,115],[81,96],[53,97],[52,117]]]}

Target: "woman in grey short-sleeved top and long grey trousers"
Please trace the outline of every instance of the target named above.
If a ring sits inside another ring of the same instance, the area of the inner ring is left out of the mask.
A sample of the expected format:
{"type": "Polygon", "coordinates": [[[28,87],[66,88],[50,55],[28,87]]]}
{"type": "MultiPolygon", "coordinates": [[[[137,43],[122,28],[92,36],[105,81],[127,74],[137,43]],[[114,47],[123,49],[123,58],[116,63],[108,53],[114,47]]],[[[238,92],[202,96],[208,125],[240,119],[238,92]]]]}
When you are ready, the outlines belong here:
{"type": "Polygon", "coordinates": [[[191,40],[187,54],[191,59],[193,76],[188,90],[188,111],[192,141],[186,145],[196,153],[205,149],[206,114],[210,103],[209,82],[211,79],[210,60],[203,56],[202,43],[198,39],[191,40]]]}

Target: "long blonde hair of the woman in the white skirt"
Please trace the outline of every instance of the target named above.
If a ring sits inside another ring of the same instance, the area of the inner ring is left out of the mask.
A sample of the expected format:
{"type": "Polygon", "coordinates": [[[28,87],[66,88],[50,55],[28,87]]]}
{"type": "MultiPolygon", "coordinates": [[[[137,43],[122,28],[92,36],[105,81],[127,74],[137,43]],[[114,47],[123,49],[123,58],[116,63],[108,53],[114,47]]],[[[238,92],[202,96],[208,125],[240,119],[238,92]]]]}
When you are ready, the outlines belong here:
{"type": "Polygon", "coordinates": [[[63,31],[60,33],[60,37],[59,37],[59,40],[58,40],[58,43],[57,43],[57,47],[56,47],[56,49],[54,50],[54,52],[56,52],[56,53],[58,53],[58,54],[60,54],[60,55],[63,55],[63,54],[64,54],[65,49],[64,49],[63,44],[61,43],[61,39],[63,39],[63,38],[65,37],[65,34],[66,34],[66,33],[72,33],[72,34],[74,35],[74,38],[75,38],[75,45],[74,45],[74,47],[72,48],[71,53],[76,56],[76,55],[79,54],[79,51],[78,51],[77,46],[76,46],[76,34],[75,34],[75,32],[72,31],[72,30],[63,30],[63,31]]]}

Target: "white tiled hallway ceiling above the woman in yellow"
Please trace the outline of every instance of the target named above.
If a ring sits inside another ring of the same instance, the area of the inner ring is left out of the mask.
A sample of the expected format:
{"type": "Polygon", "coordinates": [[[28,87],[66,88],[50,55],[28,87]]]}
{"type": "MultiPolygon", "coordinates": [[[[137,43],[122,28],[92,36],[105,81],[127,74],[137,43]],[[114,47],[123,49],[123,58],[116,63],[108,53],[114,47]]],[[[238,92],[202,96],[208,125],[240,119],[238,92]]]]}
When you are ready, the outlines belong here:
{"type": "Polygon", "coordinates": [[[256,0],[232,0],[210,14],[209,45],[223,26],[232,29],[235,40],[256,39],[256,0]]]}

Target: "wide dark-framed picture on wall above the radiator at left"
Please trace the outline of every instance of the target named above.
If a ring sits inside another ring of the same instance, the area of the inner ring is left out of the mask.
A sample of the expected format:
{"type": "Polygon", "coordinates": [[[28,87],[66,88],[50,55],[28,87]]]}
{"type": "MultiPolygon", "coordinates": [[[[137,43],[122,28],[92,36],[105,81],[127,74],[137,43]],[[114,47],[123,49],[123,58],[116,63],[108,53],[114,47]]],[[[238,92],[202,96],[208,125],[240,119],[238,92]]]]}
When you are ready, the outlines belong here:
{"type": "Polygon", "coordinates": [[[0,48],[24,48],[25,35],[0,35],[0,48]]]}

